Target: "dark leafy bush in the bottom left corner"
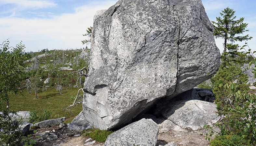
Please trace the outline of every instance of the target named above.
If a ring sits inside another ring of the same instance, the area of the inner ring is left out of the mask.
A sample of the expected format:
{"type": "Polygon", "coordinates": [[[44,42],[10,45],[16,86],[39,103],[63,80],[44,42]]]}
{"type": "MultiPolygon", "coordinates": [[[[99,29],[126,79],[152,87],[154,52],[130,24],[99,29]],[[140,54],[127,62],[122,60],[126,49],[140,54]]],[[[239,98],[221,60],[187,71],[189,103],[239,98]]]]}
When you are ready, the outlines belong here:
{"type": "Polygon", "coordinates": [[[8,110],[0,114],[0,145],[1,146],[18,146],[21,143],[22,132],[19,128],[19,121],[12,119],[11,115],[15,114],[8,110]]]}

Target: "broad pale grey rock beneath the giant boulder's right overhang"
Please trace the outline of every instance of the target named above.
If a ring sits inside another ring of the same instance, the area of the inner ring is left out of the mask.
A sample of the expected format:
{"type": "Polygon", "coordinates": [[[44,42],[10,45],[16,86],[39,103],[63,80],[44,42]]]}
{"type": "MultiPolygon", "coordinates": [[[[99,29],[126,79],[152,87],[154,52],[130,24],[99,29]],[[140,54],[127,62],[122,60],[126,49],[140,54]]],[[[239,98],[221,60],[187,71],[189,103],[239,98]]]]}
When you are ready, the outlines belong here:
{"type": "Polygon", "coordinates": [[[164,110],[162,115],[181,128],[198,130],[220,119],[216,107],[214,103],[200,100],[177,101],[164,110]]]}

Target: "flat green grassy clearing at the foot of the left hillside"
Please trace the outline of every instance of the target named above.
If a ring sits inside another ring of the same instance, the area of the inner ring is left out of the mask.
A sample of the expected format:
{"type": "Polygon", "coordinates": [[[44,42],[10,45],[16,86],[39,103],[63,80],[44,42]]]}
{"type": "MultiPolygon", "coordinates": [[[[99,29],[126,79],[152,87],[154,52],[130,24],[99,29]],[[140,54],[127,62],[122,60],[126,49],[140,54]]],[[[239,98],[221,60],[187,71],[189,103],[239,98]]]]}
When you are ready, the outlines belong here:
{"type": "Polygon", "coordinates": [[[73,118],[82,111],[82,105],[77,104],[70,110],[64,110],[74,102],[77,94],[77,88],[64,87],[62,94],[55,89],[48,89],[38,93],[38,99],[35,94],[29,94],[26,90],[18,95],[10,95],[10,109],[14,111],[33,111],[43,112],[44,109],[52,111],[51,118],[66,117],[67,122],[71,122],[73,118]]]}

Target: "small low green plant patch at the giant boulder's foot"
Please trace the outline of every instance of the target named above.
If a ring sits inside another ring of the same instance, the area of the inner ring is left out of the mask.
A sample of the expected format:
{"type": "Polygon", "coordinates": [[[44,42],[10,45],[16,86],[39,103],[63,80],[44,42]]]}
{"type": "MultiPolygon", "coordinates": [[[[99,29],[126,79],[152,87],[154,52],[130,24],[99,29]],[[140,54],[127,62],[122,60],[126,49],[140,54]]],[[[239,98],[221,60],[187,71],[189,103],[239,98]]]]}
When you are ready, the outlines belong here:
{"type": "Polygon", "coordinates": [[[89,136],[93,140],[96,140],[98,142],[104,142],[106,141],[107,137],[113,133],[113,131],[108,130],[100,130],[100,129],[88,129],[83,131],[84,136],[89,136]]]}

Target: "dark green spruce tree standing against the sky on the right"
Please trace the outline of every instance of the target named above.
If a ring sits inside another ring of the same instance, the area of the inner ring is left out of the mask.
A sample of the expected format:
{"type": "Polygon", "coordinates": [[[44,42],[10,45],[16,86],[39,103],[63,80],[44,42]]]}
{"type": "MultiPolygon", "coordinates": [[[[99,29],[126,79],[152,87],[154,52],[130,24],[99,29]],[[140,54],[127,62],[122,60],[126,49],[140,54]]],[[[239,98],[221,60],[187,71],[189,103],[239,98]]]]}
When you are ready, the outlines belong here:
{"type": "Polygon", "coordinates": [[[229,51],[236,50],[237,47],[233,44],[236,41],[242,42],[252,39],[248,34],[243,36],[244,32],[249,31],[246,29],[248,23],[244,23],[243,17],[236,20],[235,13],[234,9],[227,7],[220,13],[221,17],[216,17],[216,22],[212,21],[213,35],[216,38],[224,39],[224,52],[227,52],[227,49],[229,51]]]}

